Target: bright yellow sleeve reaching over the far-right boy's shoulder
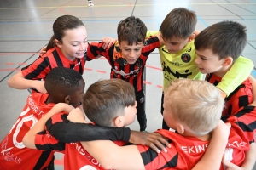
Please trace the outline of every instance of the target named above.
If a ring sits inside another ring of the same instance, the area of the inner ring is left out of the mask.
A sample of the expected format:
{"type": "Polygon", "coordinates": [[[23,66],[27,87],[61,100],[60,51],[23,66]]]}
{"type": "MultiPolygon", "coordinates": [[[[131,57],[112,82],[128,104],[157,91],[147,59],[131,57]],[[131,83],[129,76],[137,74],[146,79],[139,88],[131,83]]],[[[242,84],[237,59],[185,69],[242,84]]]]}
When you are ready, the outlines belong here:
{"type": "Polygon", "coordinates": [[[253,66],[253,62],[250,59],[240,56],[236,59],[235,63],[230,68],[230,71],[222,77],[222,80],[218,83],[217,87],[229,96],[230,93],[250,76],[253,66]]]}

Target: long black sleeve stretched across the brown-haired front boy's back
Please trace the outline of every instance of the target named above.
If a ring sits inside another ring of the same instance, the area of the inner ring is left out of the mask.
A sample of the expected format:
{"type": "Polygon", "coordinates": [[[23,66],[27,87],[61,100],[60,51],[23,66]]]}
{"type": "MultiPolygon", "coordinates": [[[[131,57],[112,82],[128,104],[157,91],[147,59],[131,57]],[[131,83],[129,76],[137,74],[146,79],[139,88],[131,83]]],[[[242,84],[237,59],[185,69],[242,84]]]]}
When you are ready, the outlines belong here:
{"type": "Polygon", "coordinates": [[[46,122],[48,132],[61,142],[71,143],[92,140],[121,140],[128,142],[131,130],[128,127],[100,127],[67,120],[67,114],[58,114],[46,122]]]}

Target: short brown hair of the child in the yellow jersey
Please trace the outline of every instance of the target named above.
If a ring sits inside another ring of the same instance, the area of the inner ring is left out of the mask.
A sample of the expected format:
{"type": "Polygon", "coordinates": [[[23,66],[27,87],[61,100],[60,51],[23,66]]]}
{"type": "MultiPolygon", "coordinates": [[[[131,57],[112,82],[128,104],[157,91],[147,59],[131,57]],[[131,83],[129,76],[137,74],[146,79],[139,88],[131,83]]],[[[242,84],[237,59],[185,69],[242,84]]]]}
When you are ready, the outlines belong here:
{"type": "Polygon", "coordinates": [[[195,31],[197,18],[194,11],[186,8],[174,8],[166,15],[160,26],[160,33],[164,40],[172,37],[188,38],[195,31]]]}

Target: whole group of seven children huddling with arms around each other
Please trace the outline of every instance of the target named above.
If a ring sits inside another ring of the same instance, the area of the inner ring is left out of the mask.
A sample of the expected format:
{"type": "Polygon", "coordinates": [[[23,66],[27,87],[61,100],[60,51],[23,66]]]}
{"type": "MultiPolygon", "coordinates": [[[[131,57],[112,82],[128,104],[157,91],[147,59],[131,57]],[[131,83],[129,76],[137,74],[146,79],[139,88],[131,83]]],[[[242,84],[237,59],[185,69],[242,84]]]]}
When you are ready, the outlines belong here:
{"type": "Polygon", "coordinates": [[[65,169],[252,169],[256,85],[252,61],[241,56],[246,28],[221,21],[198,33],[196,22],[193,11],[175,8],[160,31],[148,31],[130,16],[119,22],[118,41],[89,43],[81,20],[57,18],[45,54],[9,79],[32,94],[1,142],[0,168],[54,169],[61,151],[65,169]],[[164,118],[147,133],[143,71],[155,48],[164,118]],[[84,93],[85,62],[99,56],[111,65],[110,79],[84,93]],[[125,127],[136,115],[142,132],[125,127]]]}

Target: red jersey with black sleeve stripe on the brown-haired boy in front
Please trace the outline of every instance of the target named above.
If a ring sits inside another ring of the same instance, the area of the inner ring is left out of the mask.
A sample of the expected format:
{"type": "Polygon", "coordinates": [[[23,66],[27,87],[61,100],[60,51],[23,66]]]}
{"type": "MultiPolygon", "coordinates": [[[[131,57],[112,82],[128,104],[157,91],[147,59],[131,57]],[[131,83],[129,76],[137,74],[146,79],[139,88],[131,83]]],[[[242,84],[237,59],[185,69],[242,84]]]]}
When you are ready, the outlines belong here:
{"type": "MultiPolygon", "coordinates": [[[[59,122],[63,114],[55,116],[55,121],[59,122]]],[[[55,122],[54,121],[54,122],[55,122]]],[[[97,135],[96,133],[94,135],[97,135]]],[[[35,139],[36,147],[39,150],[55,150],[64,153],[64,168],[66,170],[72,169],[105,169],[101,164],[91,156],[82,146],[80,142],[76,143],[62,143],[57,139],[43,131],[38,133],[35,139]],[[74,159],[74,157],[76,159],[74,159]],[[86,167],[86,168],[85,168],[86,167]]],[[[125,142],[117,141],[116,144],[124,145],[125,142]]]]}

